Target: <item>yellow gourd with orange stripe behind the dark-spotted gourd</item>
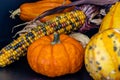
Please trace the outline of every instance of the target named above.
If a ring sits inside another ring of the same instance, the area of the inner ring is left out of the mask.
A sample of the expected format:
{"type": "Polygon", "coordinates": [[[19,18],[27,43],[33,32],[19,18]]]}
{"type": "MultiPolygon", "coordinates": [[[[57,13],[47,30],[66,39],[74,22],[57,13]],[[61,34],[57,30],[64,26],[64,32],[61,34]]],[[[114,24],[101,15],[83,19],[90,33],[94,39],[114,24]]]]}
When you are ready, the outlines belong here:
{"type": "Polygon", "coordinates": [[[99,31],[109,28],[120,28],[120,2],[116,2],[116,4],[110,8],[110,11],[101,23],[99,31]]]}

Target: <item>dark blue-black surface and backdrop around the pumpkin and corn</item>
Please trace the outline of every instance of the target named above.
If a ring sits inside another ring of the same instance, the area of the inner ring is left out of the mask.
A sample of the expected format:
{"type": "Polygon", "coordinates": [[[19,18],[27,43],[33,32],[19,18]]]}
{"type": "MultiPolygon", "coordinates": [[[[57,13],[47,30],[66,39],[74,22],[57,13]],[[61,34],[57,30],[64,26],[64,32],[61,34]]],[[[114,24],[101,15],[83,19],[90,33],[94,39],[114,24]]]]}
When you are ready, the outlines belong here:
{"type": "MultiPolygon", "coordinates": [[[[23,2],[31,1],[35,0],[0,0],[0,49],[13,40],[12,36],[14,33],[11,33],[12,27],[22,23],[19,18],[11,19],[9,11],[15,10],[23,2]]],[[[0,68],[0,80],[92,80],[92,78],[84,66],[75,74],[48,78],[32,71],[25,56],[7,67],[0,68]]]]}

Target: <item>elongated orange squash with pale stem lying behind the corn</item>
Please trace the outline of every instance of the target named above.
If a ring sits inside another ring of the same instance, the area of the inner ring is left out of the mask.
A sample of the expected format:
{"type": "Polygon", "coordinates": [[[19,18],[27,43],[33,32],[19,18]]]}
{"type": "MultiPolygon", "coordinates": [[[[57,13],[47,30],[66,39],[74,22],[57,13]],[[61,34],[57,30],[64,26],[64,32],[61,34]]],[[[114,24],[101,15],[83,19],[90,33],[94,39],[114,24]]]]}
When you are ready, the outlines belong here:
{"type": "MultiPolygon", "coordinates": [[[[20,5],[20,8],[16,9],[14,12],[12,12],[12,14],[10,15],[11,18],[15,18],[16,15],[19,15],[20,19],[23,20],[23,21],[30,21],[30,20],[33,20],[34,18],[36,18],[37,16],[39,16],[41,13],[49,10],[49,9],[52,9],[52,8],[55,8],[55,7],[58,7],[58,6],[61,6],[61,5],[66,5],[66,4],[70,4],[71,1],[69,0],[66,0],[65,2],[62,2],[62,1],[48,1],[48,0],[43,0],[43,1],[37,1],[37,2],[33,2],[33,3],[23,3],[20,5]]],[[[67,8],[63,11],[61,11],[60,13],[62,12],[68,12],[68,11],[71,11],[73,10],[73,7],[71,8],[67,8]]],[[[52,14],[50,15],[50,17],[55,17],[56,15],[59,15],[58,14],[52,14]]],[[[42,19],[42,21],[46,21],[46,20],[49,20],[50,17],[47,19],[47,17],[42,19]]]]}

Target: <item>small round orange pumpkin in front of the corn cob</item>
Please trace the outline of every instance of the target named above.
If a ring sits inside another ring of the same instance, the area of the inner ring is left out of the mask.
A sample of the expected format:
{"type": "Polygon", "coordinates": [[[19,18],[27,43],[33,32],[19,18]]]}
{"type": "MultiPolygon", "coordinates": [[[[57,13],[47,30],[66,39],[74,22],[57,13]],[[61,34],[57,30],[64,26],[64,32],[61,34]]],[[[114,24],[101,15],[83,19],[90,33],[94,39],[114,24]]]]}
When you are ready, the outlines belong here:
{"type": "Polygon", "coordinates": [[[58,34],[44,36],[28,47],[27,60],[37,73],[49,77],[75,73],[81,69],[84,48],[74,38],[58,34]]]}

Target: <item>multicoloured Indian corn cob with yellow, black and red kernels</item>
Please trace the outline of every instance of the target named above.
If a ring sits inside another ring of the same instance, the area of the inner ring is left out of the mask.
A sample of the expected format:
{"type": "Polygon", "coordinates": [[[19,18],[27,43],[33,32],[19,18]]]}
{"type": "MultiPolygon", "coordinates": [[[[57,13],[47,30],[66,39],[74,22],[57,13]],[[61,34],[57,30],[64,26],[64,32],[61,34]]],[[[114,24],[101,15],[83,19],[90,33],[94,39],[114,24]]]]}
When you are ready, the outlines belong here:
{"type": "Polygon", "coordinates": [[[50,21],[33,28],[1,49],[0,67],[5,67],[25,56],[28,46],[36,39],[55,31],[59,34],[69,33],[80,28],[84,24],[85,18],[86,16],[82,11],[75,10],[52,18],[50,21]]]}

